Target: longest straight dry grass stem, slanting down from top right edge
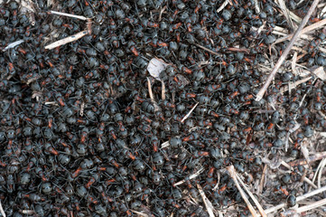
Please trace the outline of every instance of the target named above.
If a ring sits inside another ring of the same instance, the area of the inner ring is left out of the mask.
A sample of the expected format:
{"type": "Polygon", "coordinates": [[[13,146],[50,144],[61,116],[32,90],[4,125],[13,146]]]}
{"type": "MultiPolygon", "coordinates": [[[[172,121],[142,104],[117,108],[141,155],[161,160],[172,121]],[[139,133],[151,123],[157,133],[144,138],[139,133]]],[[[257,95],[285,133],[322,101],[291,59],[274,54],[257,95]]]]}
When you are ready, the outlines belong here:
{"type": "Polygon", "coordinates": [[[273,71],[270,73],[270,75],[268,76],[268,79],[265,81],[264,86],[257,93],[256,101],[260,101],[261,99],[263,99],[265,91],[267,90],[267,88],[268,88],[269,84],[272,82],[272,80],[274,80],[276,72],[281,67],[283,62],[285,61],[285,58],[287,57],[287,54],[289,54],[289,52],[291,51],[291,48],[293,47],[293,44],[294,44],[295,40],[297,39],[297,37],[302,32],[304,25],[307,24],[310,16],[312,15],[312,12],[314,11],[315,7],[318,5],[319,1],[320,0],[314,0],[313,1],[311,8],[309,9],[308,13],[303,18],[303,22],[299,25],[298,29],[293,34],[293,37],[292,37],[291,41],[288,43],[288,45],[286,46],[286,49],[282,53],[282,56],[280,57],[280,59],[275,64],[275,67],[274,67],[273,71]]]}

